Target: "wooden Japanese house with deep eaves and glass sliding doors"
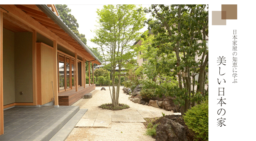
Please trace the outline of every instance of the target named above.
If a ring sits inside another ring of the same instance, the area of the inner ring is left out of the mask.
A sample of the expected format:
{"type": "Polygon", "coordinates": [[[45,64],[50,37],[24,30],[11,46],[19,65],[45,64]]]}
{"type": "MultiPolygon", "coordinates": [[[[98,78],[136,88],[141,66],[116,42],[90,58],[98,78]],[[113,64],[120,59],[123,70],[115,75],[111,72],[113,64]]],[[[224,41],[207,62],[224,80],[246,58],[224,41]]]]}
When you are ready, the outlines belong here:
{"type": "Polygon", "coordinates": [[[101,61],[62,22],[55,5],[1,4],[0,40],[0,135],[4,108],[44,105],[53,97],[55,107],[71,105],[95,89],[86,85],[85,63],[93,68],[101,61]],[[76,98],[62,100],[71,91],[76,98]]]}

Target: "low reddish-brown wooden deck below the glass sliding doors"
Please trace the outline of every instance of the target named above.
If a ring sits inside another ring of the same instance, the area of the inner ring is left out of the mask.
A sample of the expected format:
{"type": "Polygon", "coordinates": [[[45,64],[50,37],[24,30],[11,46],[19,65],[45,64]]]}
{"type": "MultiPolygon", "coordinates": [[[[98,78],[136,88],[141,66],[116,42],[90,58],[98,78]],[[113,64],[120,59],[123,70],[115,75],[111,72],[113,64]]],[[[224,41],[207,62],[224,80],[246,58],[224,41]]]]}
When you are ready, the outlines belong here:
{"type": "Polygon", "coordinates": [[[95,89],[95,84],[91,86],[78,87],[78,92],[76,89],[72,89],[63,93],[59,93],[59,105],[60,106],[71,106],[76,101],[81,99],[85,94],[90,93],[92,90],[95,89]]]}

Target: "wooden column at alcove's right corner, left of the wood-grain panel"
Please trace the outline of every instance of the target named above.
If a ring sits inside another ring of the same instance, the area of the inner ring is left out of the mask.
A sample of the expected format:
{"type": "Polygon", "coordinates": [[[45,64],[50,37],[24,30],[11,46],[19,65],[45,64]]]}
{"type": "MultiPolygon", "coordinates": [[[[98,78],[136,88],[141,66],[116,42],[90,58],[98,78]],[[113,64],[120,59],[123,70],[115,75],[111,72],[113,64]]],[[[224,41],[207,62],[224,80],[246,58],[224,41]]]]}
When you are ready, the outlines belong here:
{"type": "Polygon", "coordinates": [[[32,56],[33,56],[33,105],[37,105],[37,46],[36,46],[36,39],[37,39],[37,32],[33,31],[32,33],[32,56]]]}

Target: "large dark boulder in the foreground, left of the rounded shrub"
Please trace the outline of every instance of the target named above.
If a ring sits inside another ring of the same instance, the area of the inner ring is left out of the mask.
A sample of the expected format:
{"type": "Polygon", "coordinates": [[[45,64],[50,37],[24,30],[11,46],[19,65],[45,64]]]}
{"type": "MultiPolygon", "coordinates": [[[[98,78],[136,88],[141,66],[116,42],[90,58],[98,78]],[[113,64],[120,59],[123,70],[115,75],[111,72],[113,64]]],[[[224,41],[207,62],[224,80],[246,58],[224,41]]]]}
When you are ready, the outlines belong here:
{"type": "Polygon", "coordinates": [[[156,141],[185,141],[184,126],[170,119],[163,118],[156,127],[156,141]]]}

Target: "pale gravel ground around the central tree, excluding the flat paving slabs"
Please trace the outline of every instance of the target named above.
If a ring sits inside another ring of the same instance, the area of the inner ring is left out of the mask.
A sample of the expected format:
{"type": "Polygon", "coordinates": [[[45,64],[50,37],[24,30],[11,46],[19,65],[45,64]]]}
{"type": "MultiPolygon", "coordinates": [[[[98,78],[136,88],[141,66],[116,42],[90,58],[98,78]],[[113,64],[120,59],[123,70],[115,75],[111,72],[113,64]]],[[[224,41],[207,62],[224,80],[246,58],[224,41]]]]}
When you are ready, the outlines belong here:
{"type": "MultiPolygon", "coordinates": [[[[96,89],[91,92],[93,94],[91,99],[80,99],[73,106],[80,106],[81,109],[88,108],[88,111],[102,110],[98,108],[98,106],[111,103],[110,91],[108,87],[105,88],[106,91],[101,91],[101,87],[96,87],[96,89]]],[[[122,89],[123,87],[120,87],[119,103],[127,104],[130,108],[121,110],[120,112],[132,112],[137,110],[167,112],[163,109],[133,103],[128,99],[129,95],[123,93],[122,89]]],[[[143,123],[112,122],[111,128],[74,128],[66,141],[155,141],[151,136],[144,135],[145,131],[146,128],[143,123]]]]}

